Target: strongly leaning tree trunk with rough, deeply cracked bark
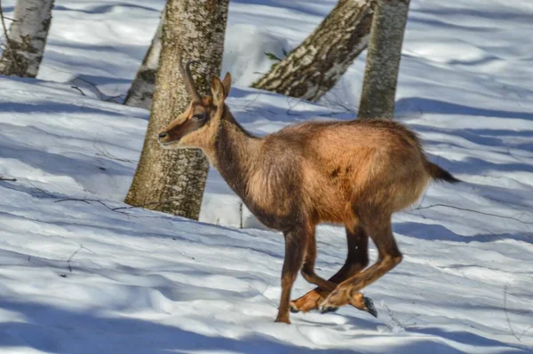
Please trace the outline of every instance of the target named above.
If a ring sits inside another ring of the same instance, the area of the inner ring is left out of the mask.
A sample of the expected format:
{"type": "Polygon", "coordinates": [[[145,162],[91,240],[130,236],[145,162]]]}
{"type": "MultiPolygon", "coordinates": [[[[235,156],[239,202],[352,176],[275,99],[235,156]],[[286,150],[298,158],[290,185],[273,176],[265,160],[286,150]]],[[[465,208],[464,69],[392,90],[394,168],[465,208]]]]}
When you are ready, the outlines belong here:
{"type": "Polygon", "coordinates": [[[339,0],[313,33],[252,87],[317,101],[366,48],[371,22],[370,0],[339,0]]]}

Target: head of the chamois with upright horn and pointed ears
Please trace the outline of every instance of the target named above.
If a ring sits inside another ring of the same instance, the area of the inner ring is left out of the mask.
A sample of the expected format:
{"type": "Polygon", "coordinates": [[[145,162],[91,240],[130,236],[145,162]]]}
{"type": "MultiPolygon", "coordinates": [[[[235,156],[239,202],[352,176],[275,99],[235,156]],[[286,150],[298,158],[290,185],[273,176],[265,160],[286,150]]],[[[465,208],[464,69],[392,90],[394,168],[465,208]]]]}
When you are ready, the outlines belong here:
{"type": "Polygon", "coordinates": [[[163,148],[207,148],[224,114],[224,102],[231,89],[231,75],[227,73],[223,81],[213,77],[211,96],[200,96],[190,71],[190,66],[194,63],[195,61],[188,61],[183,66],[179,62],[179,72],[191,95],[191,103],[184,113],[159,132],[158,138],[163,148]]]}

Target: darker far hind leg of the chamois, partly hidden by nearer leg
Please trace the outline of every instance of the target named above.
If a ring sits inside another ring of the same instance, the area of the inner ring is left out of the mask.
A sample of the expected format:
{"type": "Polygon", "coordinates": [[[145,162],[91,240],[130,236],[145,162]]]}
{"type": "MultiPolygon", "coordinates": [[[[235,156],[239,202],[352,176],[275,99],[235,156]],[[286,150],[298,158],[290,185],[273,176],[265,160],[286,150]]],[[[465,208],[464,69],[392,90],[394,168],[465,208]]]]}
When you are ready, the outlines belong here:
{"type": "MultiPolygon", "coordinates": [[[[348,250],[346,262],[342,268],[329,279],[331,283],[335,283],[336,285],[362,271],[369,264],[369,237],[358,220],[353,224],[346,224],[346,240],[348,250]]],[[[322,303],[331,291],[332,290],[329,287],[321,287],[319,285],[319,287],[309,291],[306,295],[292,301],[290,303],[290,311],[307,312],[317,309],[320,303],[322,303]]],[[[368,307],[370,308],[370,306],[368,307]]],[[[370,313],[372,312],[370,311],[370,313]]],[[[375,313],[372,314],[376,316],[375,313]]]]}

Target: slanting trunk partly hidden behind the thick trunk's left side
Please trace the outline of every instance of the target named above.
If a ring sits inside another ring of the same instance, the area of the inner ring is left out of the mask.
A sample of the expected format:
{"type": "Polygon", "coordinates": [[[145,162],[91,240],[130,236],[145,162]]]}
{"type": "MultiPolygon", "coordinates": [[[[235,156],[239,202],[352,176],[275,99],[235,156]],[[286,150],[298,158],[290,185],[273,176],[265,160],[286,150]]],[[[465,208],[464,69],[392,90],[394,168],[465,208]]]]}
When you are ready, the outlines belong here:
{"type": "Polygon", "coordinates": [[[161,35],[163,34],[163,24],[165,10],[159,20],[159,25],[155,31],[154,38],[148,48],[145,58],[135,75],[131,88],[124,99],[124,105],[150,109],[152,98],[154,97],[155,74],[159,66],[159,55],[161,53],[161,35]]]}

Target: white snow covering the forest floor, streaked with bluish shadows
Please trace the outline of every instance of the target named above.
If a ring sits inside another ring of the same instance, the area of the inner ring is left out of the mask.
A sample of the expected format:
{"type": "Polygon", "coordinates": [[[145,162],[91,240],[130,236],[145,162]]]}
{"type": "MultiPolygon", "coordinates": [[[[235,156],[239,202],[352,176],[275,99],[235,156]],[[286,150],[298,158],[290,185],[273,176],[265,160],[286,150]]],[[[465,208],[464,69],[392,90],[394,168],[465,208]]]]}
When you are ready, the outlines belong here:
{"type": "MultiPolygon", "coordinates": [[[[232,0],[224,69],[246,128],[352,116],[364,57],[326,106],[247,89],[264,51],[297,45],[334,4],[232,0]]],[[[0,181],[0,352],[533,351],[533,4],[412,1],[398,119],[465,183],[395,216],[404,262],[364,291],[378,319],[343,308],[292,326],[273,323],[282,236],[241,213],[216,171],[203,223],[122,202],[147,111],[107,100],[128,89],[162,8],[57,0],[40,80],[0,77],[0,176],[16,179],[0,181]]],[[[324,225],[318,240],[330,275],[344,232],[324,225]]],[[[294,295],[310,288],[298,279],[294,295]]]]}

